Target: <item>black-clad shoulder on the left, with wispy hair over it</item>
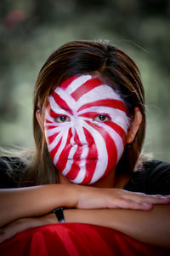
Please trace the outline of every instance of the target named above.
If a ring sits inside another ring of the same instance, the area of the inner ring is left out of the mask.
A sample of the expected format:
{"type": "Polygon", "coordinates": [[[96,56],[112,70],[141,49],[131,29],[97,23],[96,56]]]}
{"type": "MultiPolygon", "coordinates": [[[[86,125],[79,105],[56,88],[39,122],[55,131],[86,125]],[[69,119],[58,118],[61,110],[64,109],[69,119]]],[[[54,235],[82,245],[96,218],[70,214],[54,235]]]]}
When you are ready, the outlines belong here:
{"type": "Polygon", "coordinates": [[[25,168],[18,157],[0,157],[0,188],[16,188],[25,168]]]}

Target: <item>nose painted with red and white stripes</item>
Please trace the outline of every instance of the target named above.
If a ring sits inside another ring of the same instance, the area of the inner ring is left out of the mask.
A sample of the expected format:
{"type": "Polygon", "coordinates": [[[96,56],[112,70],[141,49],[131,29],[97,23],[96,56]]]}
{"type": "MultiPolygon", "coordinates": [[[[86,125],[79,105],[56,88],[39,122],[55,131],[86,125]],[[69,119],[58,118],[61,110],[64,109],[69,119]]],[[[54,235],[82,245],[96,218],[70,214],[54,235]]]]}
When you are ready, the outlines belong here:
{"type": "Polygon", "coordinates": [[[93,138],[91,136],[91,134],[83,127],[72,127],[71,129],[71,145],[72,146],[79,146],[79,147],[83,147],[83,146],[91,146],[93,143],[93,138]]]}

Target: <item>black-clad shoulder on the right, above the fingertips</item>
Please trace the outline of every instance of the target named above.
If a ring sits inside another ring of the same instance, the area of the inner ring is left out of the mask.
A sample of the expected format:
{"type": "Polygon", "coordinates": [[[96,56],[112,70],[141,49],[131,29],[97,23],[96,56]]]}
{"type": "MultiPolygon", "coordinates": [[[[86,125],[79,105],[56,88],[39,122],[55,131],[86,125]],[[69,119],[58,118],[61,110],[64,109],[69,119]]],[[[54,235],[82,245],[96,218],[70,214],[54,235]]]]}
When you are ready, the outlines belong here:
{"type": "Polygon", "coordinates": [[[148,195],[170,195],[170,163],[149,160],[134,172],[124,189],[148,195]]]}

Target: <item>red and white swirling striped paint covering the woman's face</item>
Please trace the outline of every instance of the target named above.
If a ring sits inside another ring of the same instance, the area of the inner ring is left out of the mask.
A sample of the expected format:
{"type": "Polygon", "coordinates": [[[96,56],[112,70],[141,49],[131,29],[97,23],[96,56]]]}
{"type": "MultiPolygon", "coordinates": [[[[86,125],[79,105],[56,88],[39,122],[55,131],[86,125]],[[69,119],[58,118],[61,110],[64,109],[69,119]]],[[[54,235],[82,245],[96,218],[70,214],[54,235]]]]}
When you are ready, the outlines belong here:
{"type": "Polygon", "coordinates": [[[121,97],[91,75],[66,79],[48,97],[48,151],[56,168],[72,183],[95,183],[114,172],[127,128],[121,97]]]}

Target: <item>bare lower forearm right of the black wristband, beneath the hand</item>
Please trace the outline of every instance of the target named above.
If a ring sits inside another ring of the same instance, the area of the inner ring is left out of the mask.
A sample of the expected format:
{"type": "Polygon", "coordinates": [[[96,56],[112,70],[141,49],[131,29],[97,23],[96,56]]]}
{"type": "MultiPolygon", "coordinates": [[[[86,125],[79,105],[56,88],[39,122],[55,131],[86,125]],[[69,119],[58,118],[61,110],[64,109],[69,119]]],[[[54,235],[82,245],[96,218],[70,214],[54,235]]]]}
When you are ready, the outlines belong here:
{"type": "Polygon", "coordinates": [[[66,222],[99,224],[127,236],[170,248],[170,206],[156,205],[150,211],[130,209],[65,210],[66,222]]]}

